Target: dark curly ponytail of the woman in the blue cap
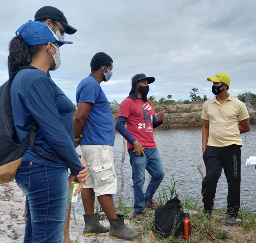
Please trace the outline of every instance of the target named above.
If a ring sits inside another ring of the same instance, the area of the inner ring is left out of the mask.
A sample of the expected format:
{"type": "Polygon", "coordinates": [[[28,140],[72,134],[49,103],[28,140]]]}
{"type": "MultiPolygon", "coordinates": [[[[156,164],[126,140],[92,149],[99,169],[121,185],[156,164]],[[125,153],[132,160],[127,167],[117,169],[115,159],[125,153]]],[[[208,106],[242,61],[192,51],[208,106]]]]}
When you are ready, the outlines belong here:
{"type": "Polygon", "coordinates": [[[9,43],[9,75],[13,74],[19,68],[29,65],[32,62],[32,57],[41,50],[43,45],[27,46],[21,35],[12,38],[9,43]]]}

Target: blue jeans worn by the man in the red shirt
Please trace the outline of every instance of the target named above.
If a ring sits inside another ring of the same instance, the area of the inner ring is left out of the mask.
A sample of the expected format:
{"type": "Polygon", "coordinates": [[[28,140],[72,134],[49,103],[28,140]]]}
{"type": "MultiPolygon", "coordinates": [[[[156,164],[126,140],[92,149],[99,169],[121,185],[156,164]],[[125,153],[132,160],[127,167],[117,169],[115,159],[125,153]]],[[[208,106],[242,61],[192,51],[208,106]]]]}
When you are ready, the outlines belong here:
{"type": "Polygon", "coordinates": [[[136,214],[145,208],[145,201],[153,197],[165,176],[162,159],[157,148],[145,148],[144,150],[145,156],[138,156],[133,152],[133,149],[128,149],[133,169],[134,213],[136,214]],[[143,193],[145,169],[152,177],[146,193],[143,193]]]}

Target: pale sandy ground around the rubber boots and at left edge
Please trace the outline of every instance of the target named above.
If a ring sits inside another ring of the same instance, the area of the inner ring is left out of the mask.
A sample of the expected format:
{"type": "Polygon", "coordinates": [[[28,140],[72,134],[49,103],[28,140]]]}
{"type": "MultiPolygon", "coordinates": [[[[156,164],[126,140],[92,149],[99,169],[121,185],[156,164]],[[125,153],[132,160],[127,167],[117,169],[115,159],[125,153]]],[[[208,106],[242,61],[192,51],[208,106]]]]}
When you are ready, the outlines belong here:
{"type": "MultiPolygon", "coordinates": [[[[23,243],[25,221],[24,221],[25,197],[15,182],[0,183],[0,242],[1,243],[23,243]]],[[[100,221],[104,226],[108,226],[108,220],[100,221]]],[[[133,220],[125,220],[125,224],[130,228],[135,228],[133,220]]],[[[138,226],[136,225],[136,228],[138,226]]],[[[114,242],[128,243],[125,241],[110,238],[108,233],[98,236],[84,237],[84,218],[82,213],[70,215],[70,240],[73,243],[80,242],[114,242]]],[[[140,241],[151,242],[151,237],[142,237],[140,241]]]]}

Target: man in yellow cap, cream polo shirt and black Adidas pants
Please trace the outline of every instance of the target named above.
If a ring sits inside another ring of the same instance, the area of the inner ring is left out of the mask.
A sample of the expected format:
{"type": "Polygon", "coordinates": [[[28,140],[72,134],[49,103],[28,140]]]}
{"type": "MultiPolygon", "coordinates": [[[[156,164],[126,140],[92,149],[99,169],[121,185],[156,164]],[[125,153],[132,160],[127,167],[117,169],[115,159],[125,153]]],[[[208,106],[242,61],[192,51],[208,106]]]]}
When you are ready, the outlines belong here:
{"type": "Polygon", "coordinates": [[[202,141],[206,177],[202,182],[204,213],[212,213],[213,199],[222,168],[227,178],[227,225],[235,225],[240,206],[241,147],[239,134],[250,131],[249,115],[242,101],[228,93],[230,77],[224,72],[213,78],[215,94],[203,106],[204,119],[202,141]],[[240,122],[240,127],[239,127],[240,122]]]}

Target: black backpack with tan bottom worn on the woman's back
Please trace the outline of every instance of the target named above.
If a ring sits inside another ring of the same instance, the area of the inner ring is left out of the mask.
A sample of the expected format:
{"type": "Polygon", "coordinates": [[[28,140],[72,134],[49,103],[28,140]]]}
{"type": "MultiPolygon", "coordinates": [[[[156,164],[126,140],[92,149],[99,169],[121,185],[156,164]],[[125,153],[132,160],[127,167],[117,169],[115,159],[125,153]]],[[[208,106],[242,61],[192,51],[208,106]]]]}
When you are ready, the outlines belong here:
{"type": "MultiPolygon", "coordinates": [[[[14,141],[17,140],[17,134],[12,117],[11,84],[17,72],[24,68],[37,69],[34,66],[24,66],[14,72],[9,80],[0,86],[0,182],[14,180],[17,169],[21,164],[22,155],[29,142],[33,151],[38,153],[34,146],[35,137],[39,129],[36,122],[30,128],[29,133],[22,143],[16,143],[14,141]]],[[[54,88],[53,93],[55,94],[54,88]]],[[[58,162],[58,158],[54,155],[40,155],[54,162],[58,162]]]]}

